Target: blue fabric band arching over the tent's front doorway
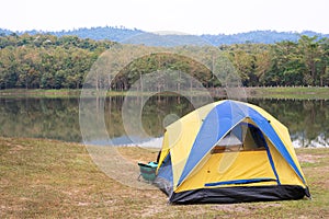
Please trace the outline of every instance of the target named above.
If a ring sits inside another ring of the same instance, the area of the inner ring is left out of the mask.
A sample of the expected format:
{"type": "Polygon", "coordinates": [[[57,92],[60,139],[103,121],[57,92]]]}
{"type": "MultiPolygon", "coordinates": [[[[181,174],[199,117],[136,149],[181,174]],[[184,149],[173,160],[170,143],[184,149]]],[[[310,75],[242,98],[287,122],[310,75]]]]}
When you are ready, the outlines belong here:
{"type": "Polygon", "coordinates": [[[270,122],[265,119],[256,110],[246,104],[235,101],[226,101],[216,105],[204,119],[202,127],[196,136],[196,139],[190,151],[186,164],[183,169],[178,186],[192,172],[194,166],[204,158],[208,151],[218,142],[218,140],[226,136],[228,131],[249,117],[256,126],[269,138],[282,157],[288,162],[293,170],[297,173],[300,180],[305,180],[286,150],[284,143],[271,126],[270,122]]]}

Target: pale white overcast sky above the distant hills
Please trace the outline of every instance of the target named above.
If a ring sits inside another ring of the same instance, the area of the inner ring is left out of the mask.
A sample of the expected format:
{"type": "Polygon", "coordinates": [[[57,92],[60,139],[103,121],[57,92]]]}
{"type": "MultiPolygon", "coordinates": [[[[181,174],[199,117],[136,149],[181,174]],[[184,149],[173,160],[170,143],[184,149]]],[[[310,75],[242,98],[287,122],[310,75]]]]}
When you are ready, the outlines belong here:
{"type": "Polygon", "coordinates": [[[0,28],[124,26],[186,34],[260,30],[329,34],[328,9],[328,0],[4,0],[0,28]]]}

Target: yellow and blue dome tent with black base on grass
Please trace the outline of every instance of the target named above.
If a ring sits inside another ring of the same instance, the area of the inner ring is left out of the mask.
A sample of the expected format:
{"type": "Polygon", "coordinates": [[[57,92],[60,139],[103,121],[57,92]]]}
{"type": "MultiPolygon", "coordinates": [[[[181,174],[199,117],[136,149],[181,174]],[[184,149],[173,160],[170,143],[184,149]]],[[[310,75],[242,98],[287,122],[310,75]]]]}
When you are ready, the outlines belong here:
{"type": "Polygon", "coordinates": [[[229,100],[166,128],[155,184],[172,204],[310,196],[288,129],[264,110],[229,100]]]}

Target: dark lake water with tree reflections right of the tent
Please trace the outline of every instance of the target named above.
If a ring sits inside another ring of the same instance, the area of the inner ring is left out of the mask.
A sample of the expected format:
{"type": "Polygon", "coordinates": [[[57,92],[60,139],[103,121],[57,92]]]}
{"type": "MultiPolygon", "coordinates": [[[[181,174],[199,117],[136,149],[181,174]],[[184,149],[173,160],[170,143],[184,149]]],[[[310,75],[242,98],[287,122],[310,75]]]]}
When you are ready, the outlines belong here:
{"type": "Polygon", "coordinates": [[[290,129],[294,147],[329,147],[328,100],[249,100],[290,129]]]}

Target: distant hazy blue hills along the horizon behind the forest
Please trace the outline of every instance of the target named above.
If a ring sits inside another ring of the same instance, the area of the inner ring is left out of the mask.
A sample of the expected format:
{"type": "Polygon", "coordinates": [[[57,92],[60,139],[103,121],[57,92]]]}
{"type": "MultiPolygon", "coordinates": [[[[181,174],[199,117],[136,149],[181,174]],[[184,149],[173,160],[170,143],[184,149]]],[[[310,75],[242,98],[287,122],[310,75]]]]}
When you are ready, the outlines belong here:
{"type": "MultiPolygon", "coordinates": [[[[9,35],[13,32],[9,30],[0,28],[0,34],[9,35]]],[[[65,36],[65,35],[76,35],[80,38],[91,38],[95,41],[110,39],[114,42],[129,42],[136,43],[138,39],[138,44],[143,43],[146,45],[152,46],[168,46],[168,42],[170,42],[169,46],[172,45],[181,45],[181,44],[204,44],[205,42],[219,46],[219,45],[231,45],[231,44],[245,44],[245,43],[260,43],[260,44],[274,44],[283,41],[297,42],[300,35],[307,36],[319,36],[319,37],[329,37],[329,34],[321,34],[311,31],[304,31],[302,33],[296,32],[276,32],[276,31],[252,31],[247,33],[238,33],[238,34],[203,34],[200,36],[196,35],[167,35],[166,38],[163,35],[161,37],[150,37],[154,35],[151,33],[147,33],[145,31],[138,28],[126,28],[126,27],[91,27],[91,28],[77,28],[71,31],[60,31],[60,32],[42,32],[42,31],[26,31],[26,32],[15,32],[16,34],[37,34],[37,33],[48,33],[56,36],[65,36]],[[138,36],[139,35],[139,36],[138,36]],[[133,37],[134,36],[134,37],[133,37]],[[137,36],[135,38],[135,36],[137,36]],[[151,38],[152,41],[148,41],[151,38]],[[139,42],[139,39],[143,39],[139,42]],[[166,42],[166,44],[163,44],[166,42]],[[180,42],[180,43],[177,43],[180,42]],[[183,43],[182,43],[183,42],[183,43]]]]}

